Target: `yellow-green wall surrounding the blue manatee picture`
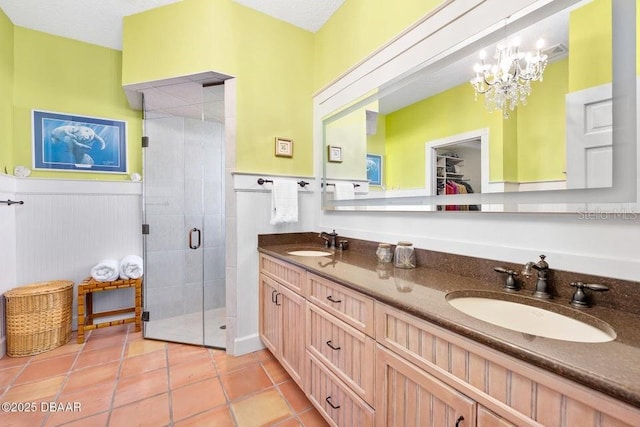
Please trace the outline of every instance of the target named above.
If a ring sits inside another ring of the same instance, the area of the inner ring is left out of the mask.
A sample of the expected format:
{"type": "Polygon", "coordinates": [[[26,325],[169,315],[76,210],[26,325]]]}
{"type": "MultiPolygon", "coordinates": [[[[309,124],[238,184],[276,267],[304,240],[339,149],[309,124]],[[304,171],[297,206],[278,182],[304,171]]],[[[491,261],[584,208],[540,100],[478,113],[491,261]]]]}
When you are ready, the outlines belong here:
{"type": "MultiPolygon", "coordinates": [[[[32,165],[31,110],[127,122],[128,164],[141,171],[140,112],[122,90],[119,51],[14,27],[14,164],[32,165]]],[[[124,174],[33,171],[34,177],[128,180],[124,174]]]]}

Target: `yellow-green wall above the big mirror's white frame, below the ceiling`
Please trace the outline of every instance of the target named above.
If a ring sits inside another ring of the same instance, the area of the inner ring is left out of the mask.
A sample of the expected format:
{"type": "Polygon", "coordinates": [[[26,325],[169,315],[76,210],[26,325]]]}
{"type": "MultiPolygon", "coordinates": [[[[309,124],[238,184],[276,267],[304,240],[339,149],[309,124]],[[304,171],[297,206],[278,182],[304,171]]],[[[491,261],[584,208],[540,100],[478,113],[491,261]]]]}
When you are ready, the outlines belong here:
{"type": "Polygon", "coordinates": [[[314,88],[320,90],[442,3],[346,0],[315,35],[314,88]]]}

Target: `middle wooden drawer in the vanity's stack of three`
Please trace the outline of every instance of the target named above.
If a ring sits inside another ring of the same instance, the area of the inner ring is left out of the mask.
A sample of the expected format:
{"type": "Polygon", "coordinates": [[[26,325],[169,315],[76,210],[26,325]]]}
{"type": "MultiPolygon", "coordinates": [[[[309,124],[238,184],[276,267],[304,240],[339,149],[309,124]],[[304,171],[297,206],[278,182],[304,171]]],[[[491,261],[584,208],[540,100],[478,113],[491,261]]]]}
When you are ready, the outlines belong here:
{"type": "Polygon", "coordinates": [[[307,303],[307,349],[373,405],[375,341],[307,303]]]}

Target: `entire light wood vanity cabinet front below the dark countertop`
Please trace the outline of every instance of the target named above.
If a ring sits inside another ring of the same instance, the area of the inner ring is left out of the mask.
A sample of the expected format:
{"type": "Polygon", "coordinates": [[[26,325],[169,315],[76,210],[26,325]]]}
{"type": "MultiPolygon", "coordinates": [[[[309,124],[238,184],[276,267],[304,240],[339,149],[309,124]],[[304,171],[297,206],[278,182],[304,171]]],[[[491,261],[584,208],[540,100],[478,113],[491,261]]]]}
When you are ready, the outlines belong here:
{"type": "Polygon", "coordinates": [[[640,409],[260,254],[260,337],[333,426],[640,426],[640,409]]]}

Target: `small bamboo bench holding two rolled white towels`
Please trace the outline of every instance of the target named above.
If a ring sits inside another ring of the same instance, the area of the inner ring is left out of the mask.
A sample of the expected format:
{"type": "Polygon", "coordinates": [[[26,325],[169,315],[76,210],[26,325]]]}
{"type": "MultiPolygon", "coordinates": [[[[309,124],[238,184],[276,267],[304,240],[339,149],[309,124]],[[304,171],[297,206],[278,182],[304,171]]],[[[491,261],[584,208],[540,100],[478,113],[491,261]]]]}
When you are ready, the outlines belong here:
{"type": "Polygon", "coordinates": [[[135,331],[142,328],[142,278],[139,279],[119,279],[110,282],[98,282],[93,277],[87,277],[78,285],[78,344],[84,342],[85,331],[109,326],[135,323],[135,331]],[[116,289],[134,288],[133,307],[121,308],[118,310],[93,312],[93,294],[96,292],[113,291],[116,289]],[[115,316],[125,313],[135,313],[134,317],[112,320],[108,322],[95,323],[97,318],[115,316]]]}

